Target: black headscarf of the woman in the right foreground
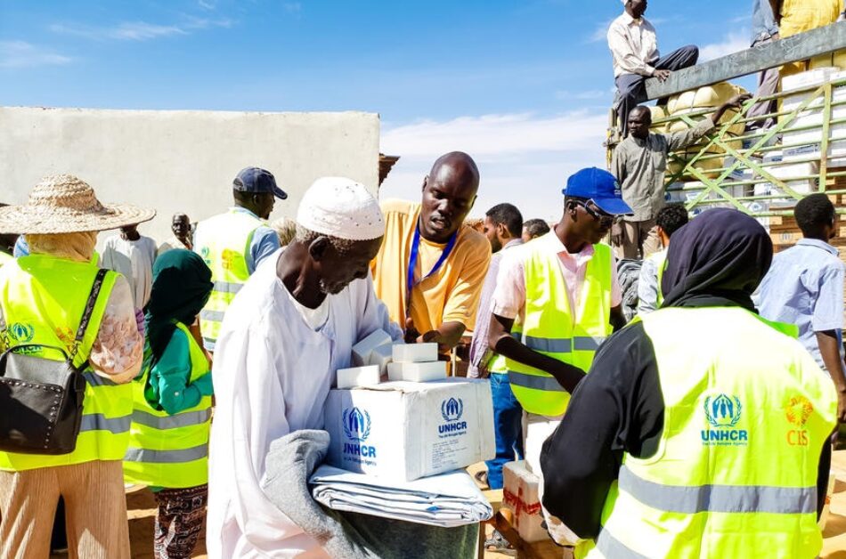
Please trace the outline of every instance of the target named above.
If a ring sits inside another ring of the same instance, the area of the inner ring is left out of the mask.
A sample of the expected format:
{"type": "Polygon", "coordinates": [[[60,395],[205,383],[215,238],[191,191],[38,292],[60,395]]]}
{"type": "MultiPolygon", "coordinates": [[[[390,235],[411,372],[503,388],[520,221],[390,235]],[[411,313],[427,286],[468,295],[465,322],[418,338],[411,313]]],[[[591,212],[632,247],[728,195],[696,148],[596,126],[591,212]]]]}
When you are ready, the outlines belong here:
{"type": "Polygon", "coordinates": [[[773,244],[761,223],[734,209],[707,210],[672,235],[662,308],[740,306],[755,312],[752,293],[772,259],[773,244]]]}

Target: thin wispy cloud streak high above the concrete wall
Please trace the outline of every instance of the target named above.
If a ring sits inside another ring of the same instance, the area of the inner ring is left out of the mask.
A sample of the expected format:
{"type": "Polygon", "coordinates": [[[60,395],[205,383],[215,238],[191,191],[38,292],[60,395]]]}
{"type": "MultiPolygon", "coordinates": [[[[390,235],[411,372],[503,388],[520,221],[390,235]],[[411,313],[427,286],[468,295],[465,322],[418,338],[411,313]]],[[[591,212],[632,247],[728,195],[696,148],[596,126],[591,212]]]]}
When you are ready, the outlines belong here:
{"type": "Polygon", "coordinates": [[[113,27],[89,27],[75,24],[53,24],[50,30],[63,35],[81,36],[94,40],[147,41],[164,36],[184,36],[192,31],[208,28],[230,28],[232,20],[187,18],[183,23],[159,25],[146,21],[124,21],[113,27]]]}

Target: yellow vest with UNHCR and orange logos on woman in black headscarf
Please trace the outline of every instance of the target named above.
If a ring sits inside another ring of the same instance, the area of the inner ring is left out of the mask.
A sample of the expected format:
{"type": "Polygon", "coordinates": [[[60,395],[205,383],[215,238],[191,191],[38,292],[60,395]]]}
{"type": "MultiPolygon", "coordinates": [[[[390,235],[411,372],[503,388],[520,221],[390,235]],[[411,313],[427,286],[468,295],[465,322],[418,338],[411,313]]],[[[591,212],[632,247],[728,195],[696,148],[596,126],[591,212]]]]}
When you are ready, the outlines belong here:
{"type": "Polygon", "coordinates": [[[623,455],[596,547],[576,556],[818,555],[831,379],[800,344],[740,308],[668,308],[640,320],[655,348],[661,441],[650,458],[623,455]],[[714,332],[719,344],[696,343],[714,332]]]}

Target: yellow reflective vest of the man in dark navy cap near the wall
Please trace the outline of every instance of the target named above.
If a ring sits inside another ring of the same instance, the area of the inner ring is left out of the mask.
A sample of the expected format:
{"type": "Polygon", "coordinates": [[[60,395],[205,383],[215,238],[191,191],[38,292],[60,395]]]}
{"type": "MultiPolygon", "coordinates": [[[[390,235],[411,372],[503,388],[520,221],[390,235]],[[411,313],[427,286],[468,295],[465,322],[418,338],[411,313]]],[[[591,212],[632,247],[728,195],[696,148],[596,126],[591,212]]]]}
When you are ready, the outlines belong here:
{"type": "Polygon", "coordinates": [[[209,350],[214,349],[226,309],[249,278],[249,246],[253,233],[262,225],[264,222],[255,215],[234,209],[199,224],[194,252],[203,257],[215,284],[199,313],[203,344],[209,350]]]}

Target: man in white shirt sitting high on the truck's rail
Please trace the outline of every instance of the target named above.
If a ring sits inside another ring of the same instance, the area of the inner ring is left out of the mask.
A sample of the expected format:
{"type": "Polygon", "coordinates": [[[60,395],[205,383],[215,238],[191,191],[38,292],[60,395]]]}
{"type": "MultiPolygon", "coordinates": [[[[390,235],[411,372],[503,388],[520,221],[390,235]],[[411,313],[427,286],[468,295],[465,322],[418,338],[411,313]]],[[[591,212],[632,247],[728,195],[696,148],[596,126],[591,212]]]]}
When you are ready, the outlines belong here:
{"type": "Polygon", "coordinates": [[[643,17],[647,0],[622,0],[625,12],[608,28],[608,48],[614,62],[614,83],[617,85],[617,122],[625,137],[629,111],[647,100],[644,82],[647,77],[664,81],[670,73],[694,66],[699,49],[694,45],[681,47],[666,56],[658,53],[655,28],[643,17]]]}

